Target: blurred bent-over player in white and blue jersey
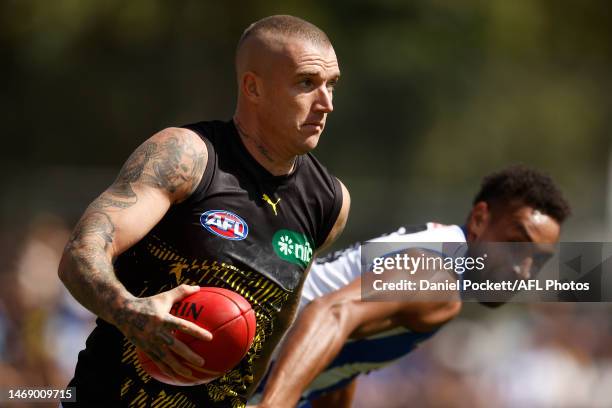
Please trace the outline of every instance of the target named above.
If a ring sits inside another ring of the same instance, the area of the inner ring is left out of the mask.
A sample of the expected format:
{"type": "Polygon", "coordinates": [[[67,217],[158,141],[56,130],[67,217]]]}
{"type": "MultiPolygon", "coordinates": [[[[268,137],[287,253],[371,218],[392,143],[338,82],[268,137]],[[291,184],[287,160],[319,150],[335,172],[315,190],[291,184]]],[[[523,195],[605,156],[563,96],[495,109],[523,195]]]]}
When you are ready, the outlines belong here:
{"type": "MultiPolygon", "coordinates": [[[[484,178],[465,226],[429,223],[373,241],[405,242],[408,249],[411,242],[531,242],[529,254],[482,272],[527,279],[551,255],[547,244],[558,241],[569,213],[549,177],[515,166],[484,178]]],[[[439,302],[363,302],[361,279],[359,245],[313,266],[302,292],[305,308],[280,349],[263,396],[253,399],[261,398],[259,408],[292,407],[298,401],[315,408],[350,407],[359,374],[408,354],[461,310],[457,292],[439,302]]]]}

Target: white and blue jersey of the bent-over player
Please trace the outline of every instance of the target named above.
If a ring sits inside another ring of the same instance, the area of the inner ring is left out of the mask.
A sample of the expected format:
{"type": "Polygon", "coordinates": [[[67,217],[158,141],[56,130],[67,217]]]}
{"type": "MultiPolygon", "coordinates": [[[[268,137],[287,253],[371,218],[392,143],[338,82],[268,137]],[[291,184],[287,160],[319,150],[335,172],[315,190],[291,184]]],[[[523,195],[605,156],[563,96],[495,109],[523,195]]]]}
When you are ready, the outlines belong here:
{"type": "MultiPolygon", "coordinates": [[[[440,243],[442,252],[442,243],[465,243],[466,237],[463,229],[457,225],[428,223],[418,227],[402,227],[368,242],[440,243]]],[[[406,248],[409,247],[406,245],[406,248]]],[[[359,278],[361,272],[360,244],[317,259],[304,283],[300,310],[315,298],[345,287],[359,278]]],[[[298,406],[307,407],[308,400],[342,388],[359,374],[382,368],[405,356],[436,331],[419,333],[398,327],[363,339],[349,339],[329,366],[308,386],[298,406]]],[[[253,403],[261,397],[266,378],[253,397],[253,403]]]]}

